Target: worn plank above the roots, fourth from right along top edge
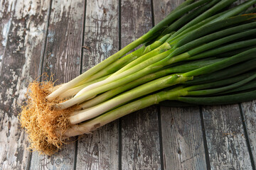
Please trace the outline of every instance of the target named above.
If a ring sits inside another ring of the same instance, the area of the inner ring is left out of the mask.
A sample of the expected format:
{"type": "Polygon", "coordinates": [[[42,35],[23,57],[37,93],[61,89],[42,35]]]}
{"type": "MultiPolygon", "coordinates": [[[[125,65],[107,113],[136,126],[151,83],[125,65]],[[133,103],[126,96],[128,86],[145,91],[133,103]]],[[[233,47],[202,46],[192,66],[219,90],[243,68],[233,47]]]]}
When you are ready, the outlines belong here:
{"type": "Polygon", "coordinates": [[[62,84],[80,74],[84,4],[79,1],[53,1],[43,61],[43,72],[53,74],[62,84]]]}

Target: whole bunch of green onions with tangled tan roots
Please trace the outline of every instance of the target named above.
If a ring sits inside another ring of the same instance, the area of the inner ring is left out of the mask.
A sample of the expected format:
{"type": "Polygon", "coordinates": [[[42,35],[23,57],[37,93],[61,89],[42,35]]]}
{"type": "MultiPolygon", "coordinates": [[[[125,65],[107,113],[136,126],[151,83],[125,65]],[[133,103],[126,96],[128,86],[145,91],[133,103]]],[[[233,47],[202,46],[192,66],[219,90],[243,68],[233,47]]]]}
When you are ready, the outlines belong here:
{"type": "Polygon", "coordinates": [[[234,1],[187,0],[141,38],[68,83],[31,83],[19,116],[31,148],[53,154],[69,137],[157,103],[255,99],[256,13],[248,8],[256,0],[227,9],[234,1]]]}

